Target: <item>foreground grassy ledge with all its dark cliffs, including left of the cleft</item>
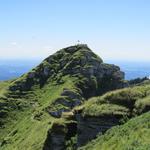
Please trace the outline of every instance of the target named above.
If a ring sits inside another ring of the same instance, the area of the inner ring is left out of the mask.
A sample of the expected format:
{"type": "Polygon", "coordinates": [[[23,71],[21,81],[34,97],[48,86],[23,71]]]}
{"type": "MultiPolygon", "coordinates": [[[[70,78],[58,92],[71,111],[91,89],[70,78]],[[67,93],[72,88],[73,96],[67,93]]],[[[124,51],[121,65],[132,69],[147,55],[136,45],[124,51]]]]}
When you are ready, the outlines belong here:
{"type": "Polygon", "coordinates": [[[54,149],[77,149],[116,125],[150,110],[150,81],[90,98],[69,113],[63,113],[61,123],[54,122],[45,143],[54,149]],[[70,126],[72,134],[70,134],[70,126]],[[76,124],[76,125],[74,125],[76,124]],[[61,131],[61,132],[57,132],[61,131]],[[68,140],[71,139],[71,140],[68,140]]]}

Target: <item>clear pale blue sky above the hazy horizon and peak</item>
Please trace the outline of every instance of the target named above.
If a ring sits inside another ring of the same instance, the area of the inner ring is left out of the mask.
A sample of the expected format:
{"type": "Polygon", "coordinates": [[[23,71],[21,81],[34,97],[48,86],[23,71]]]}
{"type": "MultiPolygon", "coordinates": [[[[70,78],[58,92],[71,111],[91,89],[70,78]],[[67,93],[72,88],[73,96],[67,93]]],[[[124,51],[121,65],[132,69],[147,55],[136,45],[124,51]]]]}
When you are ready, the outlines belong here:
{"type": "Polygon", "coordinates": [[[80,40],[102,58],[150,59],[150,0],[0,0],[0,59],[45,58],[80,40]]]}

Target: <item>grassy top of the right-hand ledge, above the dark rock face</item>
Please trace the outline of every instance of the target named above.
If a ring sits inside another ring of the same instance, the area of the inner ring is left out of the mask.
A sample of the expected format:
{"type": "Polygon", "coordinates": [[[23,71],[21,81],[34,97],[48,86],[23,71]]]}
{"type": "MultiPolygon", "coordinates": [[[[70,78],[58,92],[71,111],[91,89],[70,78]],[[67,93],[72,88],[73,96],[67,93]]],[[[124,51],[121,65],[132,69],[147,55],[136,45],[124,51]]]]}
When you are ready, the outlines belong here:
{"type": "Polygon", "coordinates": [[[78,109],[83,116],[123,115],[133,117],[150,110],[150,84],[128,87],[93,97],[78,109]]]}

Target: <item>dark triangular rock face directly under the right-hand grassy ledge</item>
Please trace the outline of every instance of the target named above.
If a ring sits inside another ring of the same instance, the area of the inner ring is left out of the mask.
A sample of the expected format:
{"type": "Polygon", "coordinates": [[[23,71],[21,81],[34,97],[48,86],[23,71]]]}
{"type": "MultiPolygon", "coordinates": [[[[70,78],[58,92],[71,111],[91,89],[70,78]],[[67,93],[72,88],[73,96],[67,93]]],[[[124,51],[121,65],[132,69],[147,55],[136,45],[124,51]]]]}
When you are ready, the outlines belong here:
{"type": "Polygon", "coordinates": [[[96,138],[98,134],[103,134],[111,127],[118,125],[121,116],[93,117],[77,115],[77,147],[85,145],[96,138]]]}

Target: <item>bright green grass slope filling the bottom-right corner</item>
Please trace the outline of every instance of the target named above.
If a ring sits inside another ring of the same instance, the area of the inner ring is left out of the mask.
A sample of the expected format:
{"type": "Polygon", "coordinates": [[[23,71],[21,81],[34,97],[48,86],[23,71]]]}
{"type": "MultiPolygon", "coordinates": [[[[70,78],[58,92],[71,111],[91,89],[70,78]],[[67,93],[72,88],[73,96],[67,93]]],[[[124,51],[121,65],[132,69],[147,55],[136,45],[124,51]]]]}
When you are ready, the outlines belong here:
{"type": "Polygon", "coordinates": [[[149,150],[150,112],[113,127],[81,150],[149,150]]]}

